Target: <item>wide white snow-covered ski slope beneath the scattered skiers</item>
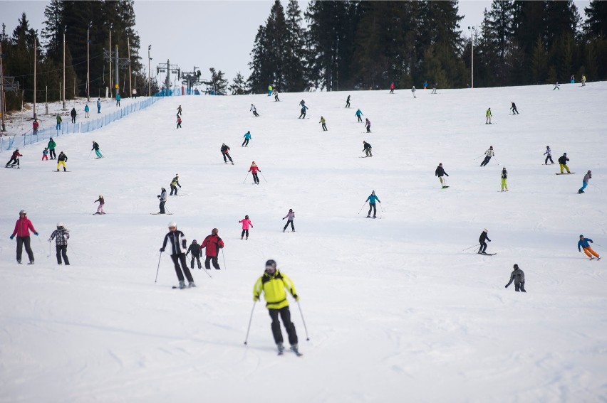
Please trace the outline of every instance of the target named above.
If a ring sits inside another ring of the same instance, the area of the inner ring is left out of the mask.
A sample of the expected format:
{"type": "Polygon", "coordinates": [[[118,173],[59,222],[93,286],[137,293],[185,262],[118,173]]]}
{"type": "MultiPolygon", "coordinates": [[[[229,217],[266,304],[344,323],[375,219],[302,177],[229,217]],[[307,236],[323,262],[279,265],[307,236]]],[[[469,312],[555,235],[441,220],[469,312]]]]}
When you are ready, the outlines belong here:
{"type": "Polygon", "coordinates": [[[606,401],[606,260],[576,244],[583,234],[607,254],[607,82],[280,97],[170,98],[59,137],[71,172],[39,161],[43,145],[21,150],[20,170],[0,170],[0,402],[606,401]],[[309,119],[297,119],[301,99],[309,119]],[[88,158],[92,140],[107,158],[88,158]],[[359,158],[363,140],[373,158],[359,158]],[[575,174],[544,166],[548,145],[575,174]],[[480,168],[489,146],[496,158],[480,168]],[[175,173],[174,214],[150,215],[175,173]],[[358,213],[371,190],[378,220],[358,213]],[[103,216],[93,215],[99,194],[103,216]],[[9,240],[21,208],[41,233],[33,266],[16,264],[9,240]],[[282,232],[289,208],[295,233],[282,232]],[[170,220],[188,244],[213,227],[226,243],[212,279],[194,269],[196,289],[171,289],[166,253],[154,281],[170,220]],[[69,267],[56,264],[54,243],[47,258],[58,221],[71,231],[69,267]],[[462,252],[485,227],[497,255],[462,252]],[[276,355],[264,303],[243,343],[266,259],[301,296],[309,341],[290,299],[301,358],[276,355]],[[526,294],[504,289],[515,263],[526,294]]]}

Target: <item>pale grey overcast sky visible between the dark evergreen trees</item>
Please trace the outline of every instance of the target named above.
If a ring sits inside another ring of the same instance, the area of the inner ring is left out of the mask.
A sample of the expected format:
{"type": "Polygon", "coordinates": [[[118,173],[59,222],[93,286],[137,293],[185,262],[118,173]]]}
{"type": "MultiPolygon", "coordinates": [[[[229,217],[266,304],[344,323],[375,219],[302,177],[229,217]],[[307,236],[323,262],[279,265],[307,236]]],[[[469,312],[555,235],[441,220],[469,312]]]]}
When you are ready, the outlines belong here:
{"type": "MultiPolygon", "coordinates": [[[[23,12],[30,26],[42,30],[44,8],[49,1],[0,0],[1,23],[11,35],[23,12]]],[[[282,0],[286,9],[287,1],[282,0]]],[[[460,26],[482,22],[483,11],[490,0],[460,1],[460,26]]],[[[590,1],[574,1],[584,18],[583,8],[590,1]]],[[[264,24],[274,1],[135,1],[136,27],[141,38],[140,56],[147,64],[147,45],[152,45],[152,77],[157,63],[180,66],[191,71],[194,65],[208,77],[209,68],[222,70],[228,80],[237,72],[249,77],[249,60],[257,28],[264,24]]],[[[305,11],[308,1],[299,1],[305,11]]]]}

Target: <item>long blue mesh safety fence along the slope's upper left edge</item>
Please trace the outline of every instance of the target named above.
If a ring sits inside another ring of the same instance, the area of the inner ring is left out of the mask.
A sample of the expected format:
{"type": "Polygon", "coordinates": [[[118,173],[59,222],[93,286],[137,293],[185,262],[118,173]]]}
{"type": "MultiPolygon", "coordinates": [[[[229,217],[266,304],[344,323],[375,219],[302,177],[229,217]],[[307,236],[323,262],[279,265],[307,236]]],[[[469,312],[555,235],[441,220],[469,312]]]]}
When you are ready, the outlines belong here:
{"type": "MultiPolygon", "coordinates": [[[[33,134],[32,129],[29,129],[24,134],[16,136],[2,136],[0,137],[0,151],[17,149],[19,147],[38,143],[38,141],[48,141],[48,139],[51,137],[57,137],[63,134],[88,133],[90,131],[95,131],[107,126],[112,122],[115,122],[116,120],[127,117],[133,112],[145,109],[160,99],[162,99],[162,97],[146,98],[145,100],[133,102],[126,107],[120,108],[110,114],[105,114],[97,119],[86,119],[85,122],[61,122],[60,125],[53,124],[52,127],[43,127],[42,129],[38,129],[38,134],[33,134]]],[[[66,117],[66,120],[67,119],[69,119],[69,117],[66,117]]]]}

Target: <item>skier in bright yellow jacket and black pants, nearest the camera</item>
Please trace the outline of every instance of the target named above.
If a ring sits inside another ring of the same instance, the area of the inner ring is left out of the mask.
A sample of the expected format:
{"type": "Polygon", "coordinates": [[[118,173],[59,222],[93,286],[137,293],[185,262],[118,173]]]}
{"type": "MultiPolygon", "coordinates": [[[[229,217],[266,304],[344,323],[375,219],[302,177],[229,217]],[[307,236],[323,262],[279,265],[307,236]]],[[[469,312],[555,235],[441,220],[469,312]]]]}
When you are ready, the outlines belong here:
{"type": "Polygon", "coordinates": [[[272,318],[272,335],[274,336],[274,343],[276,343],[279,354],[282,354],[284,351],[284,340],[279,321],[280,316],[286,333],[289,335],[291,350],[299,355],[297,333],[295,331],[295,325],[291,322],[291,311],[289,311],[289,301],[286,299],[285,289],[289,291],[289,294],[293,296],[295,301],[299,301],[299,296],[297,295],[293,281],[289,279],[289,276],[281,273],[279,269],[276,269],[276,262],[273,259],[269,259],[266,262],[264,274],[257,279],[253,286],[253,301],[259,301],[261,292],[264,293],[266,308],[268,308],[270,317],[272,318]]]}

